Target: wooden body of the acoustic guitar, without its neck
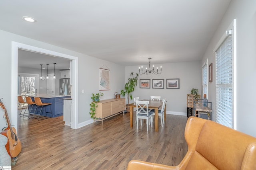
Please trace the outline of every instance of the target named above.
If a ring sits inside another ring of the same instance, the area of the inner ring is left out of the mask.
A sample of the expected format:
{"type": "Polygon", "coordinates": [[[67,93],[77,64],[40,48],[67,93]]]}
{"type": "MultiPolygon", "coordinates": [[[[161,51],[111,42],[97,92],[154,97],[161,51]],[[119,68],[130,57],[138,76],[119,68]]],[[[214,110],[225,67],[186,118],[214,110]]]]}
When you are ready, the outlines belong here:
{"type": "Polygon", "coordinates": [[[11,156],[11,158],[14,158],[18,156],[18,154],[20,154],[21,143],[16,135],[16,129],[14,127],[12,127],[12,131],[13,133],[11,132],[10,129],[6,129],[2,131],[1,134],[7,137],[8,141],[7,141],[7,144],[5,145],[5,148],[8,154],[11,156]]]}

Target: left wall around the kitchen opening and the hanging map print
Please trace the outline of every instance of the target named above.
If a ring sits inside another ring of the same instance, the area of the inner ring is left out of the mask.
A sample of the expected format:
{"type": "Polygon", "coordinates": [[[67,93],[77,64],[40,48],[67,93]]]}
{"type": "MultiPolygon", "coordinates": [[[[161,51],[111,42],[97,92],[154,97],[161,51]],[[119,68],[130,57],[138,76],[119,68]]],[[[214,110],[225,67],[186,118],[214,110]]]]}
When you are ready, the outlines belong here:
{"type": "MultiPolygon", "coordinates": [[[[124,86],[125,79],[125,68],[122,65],[110,63],[104,60],[96,59],[81,53],[76,53],[61,47],[36,41],[34,39],[29,39],[16,35],[13,33],[8,33],[6,31],[0,30],[0,72],[1,72],[1,83],[0,83],[0,98],[3,98],[8,115],[11,112],[11,56],[12,56],[12,41],[31,45],[34,47],[39,47],[42,49],[47,49],[50,51],[56,51],[58,53],[71,55],[78,57],[78,123],[80,126],[86,125],[86,123],[91,123],[90,119],[90,102],[91,94],[99,92],[99,68],[106,64],[110,69],[110,89],[109,91],[103,91],[104,96],[102,99],[114,98],[115,92],[120,92],[124,86]],[[84,89],[84,94],[82,94],[82,89],[84,89]]],[[[1,115],[4,111],[0,109],[0,128],[5,127],[5,120],[1,115]]],[[[11,119],[11,117],[10,117],[11,119]]],[[[15,127],[16,125],[14,125],[15,127]]]]}

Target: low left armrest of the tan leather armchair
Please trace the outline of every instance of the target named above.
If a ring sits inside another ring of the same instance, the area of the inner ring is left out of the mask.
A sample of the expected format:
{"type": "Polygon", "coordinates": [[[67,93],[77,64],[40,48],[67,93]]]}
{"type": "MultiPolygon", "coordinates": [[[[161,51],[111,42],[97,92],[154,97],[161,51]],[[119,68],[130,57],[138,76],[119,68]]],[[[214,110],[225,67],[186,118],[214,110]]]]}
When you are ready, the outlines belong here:
{"type": "Polygon", "coordinates": [[[177,166],[167,166],[140,160],[131,160],[128,164],[127,170],[178,170],[178,168],[177,166]]]}

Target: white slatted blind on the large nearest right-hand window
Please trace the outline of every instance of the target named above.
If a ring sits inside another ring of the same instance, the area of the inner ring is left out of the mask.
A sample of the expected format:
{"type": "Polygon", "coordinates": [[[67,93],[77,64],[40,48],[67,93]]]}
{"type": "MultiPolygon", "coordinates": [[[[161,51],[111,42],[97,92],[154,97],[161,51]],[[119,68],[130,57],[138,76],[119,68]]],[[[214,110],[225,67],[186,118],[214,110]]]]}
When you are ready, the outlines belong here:
{"type": "Polygon", "coordinates": [[[216,121],[227,127],[234,128],[231,34],[226,37],[216,51],[216,121]]]}

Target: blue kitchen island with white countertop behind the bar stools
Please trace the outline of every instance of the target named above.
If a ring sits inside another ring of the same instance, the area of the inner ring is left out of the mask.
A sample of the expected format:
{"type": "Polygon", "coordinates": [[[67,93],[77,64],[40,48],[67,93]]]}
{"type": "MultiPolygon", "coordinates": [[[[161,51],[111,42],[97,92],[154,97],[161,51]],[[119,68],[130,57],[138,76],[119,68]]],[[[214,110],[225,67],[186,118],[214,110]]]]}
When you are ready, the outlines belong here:
{"type": "MultiPolygon", "coordinates": [[[[45,109],[42,109],[41,115],[48,116],[48,117],[58,117],[63,115],[63,99],[70,98],[71,95],[59,95],[59,94],[38,94],[36,96],[30,96],[32,101],[34,101],[34,97],[38,97],[41,99],[42,103],[50,103],[51,105],[46,106],[45,109]],[[46,111],[47,110],[47,111],[46,111]],[[51,112],[48,113],[48,112],[51,112]]],[[[28,108],[31,109],[32,106],[28,108]]],[[[36,109],[36,105],[33,106],[33,110],[36,109]]],[[[40,107],[37,108],[38,110],[35,111],[35,114],[39,114],[40,107]]]]}

